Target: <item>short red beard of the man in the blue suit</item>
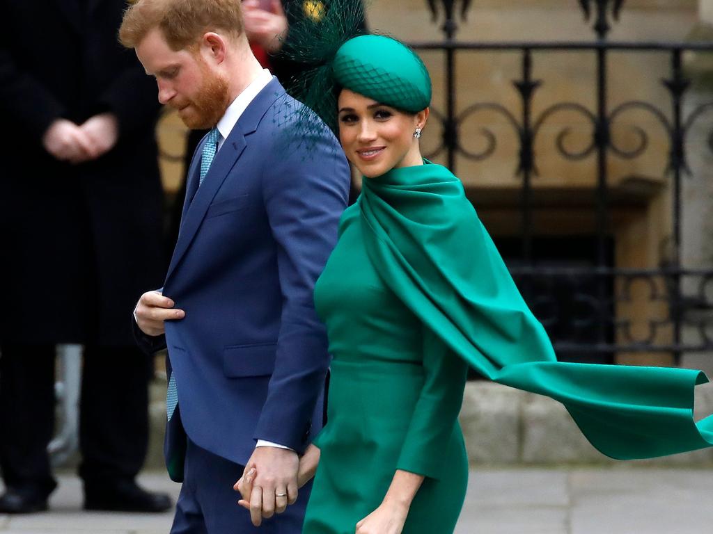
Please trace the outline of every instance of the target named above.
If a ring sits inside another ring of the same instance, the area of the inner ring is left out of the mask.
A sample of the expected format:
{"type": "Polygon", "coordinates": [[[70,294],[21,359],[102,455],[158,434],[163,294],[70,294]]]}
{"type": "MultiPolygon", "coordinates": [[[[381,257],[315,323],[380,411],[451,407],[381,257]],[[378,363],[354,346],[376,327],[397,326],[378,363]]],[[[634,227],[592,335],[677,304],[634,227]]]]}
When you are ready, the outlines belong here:
{"type": "Polygon", "coordinates": [[[220,117],[225,115],[225,110],[230,105],[230,95],[227,80],[212,73],[200,56],[198,65],[203,78],[198,93],[192,100],[188,100],[188,103],[174,107],[180,110],[188,104],[189,108],[183,112],[179,111],[183,123],[191,130],[207,130],[215,126],[220,117]]]}

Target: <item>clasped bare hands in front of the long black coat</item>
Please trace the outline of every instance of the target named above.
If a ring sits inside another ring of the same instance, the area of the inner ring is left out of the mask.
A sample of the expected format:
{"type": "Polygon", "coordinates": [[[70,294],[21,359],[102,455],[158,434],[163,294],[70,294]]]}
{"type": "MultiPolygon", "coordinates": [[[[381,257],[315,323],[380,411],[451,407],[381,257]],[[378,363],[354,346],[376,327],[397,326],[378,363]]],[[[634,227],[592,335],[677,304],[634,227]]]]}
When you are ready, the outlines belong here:
{"type": "Polygon", "coordinates": [[[42,145],[56,159],[78,164],[106,154],[116,145],[118,135],[116,115],[100,113],[82,125],[56,119],[42,136],[42,145]]]}

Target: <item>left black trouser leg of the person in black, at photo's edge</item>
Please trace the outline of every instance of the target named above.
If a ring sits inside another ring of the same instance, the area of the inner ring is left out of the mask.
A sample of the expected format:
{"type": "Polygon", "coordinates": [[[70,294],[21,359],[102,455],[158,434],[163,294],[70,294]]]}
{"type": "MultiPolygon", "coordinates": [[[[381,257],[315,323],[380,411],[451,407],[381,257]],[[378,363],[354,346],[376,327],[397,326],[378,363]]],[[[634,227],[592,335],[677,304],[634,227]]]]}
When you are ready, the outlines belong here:
{"type": "Polygon", "coordinates": [[[54,431],[53,345],[0,347],[0,468],[5,485],[49,494],[54,431]]]}

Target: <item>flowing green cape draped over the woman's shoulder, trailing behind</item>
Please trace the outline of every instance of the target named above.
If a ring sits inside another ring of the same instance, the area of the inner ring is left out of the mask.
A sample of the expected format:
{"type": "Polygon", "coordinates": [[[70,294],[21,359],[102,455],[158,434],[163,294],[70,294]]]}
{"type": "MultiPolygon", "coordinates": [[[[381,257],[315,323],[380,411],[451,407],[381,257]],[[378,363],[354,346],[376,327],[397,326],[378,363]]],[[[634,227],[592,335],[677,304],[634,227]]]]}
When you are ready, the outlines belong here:
{"type": "Polygon", "coordinates": [[[363,183],[361,223],[379,276],[483,377],[558,400],[590,443],[614,459],[713,444],[713,417],[693,420],[703,372],[556,360],[448,169],[426,162],[363,183]]]}

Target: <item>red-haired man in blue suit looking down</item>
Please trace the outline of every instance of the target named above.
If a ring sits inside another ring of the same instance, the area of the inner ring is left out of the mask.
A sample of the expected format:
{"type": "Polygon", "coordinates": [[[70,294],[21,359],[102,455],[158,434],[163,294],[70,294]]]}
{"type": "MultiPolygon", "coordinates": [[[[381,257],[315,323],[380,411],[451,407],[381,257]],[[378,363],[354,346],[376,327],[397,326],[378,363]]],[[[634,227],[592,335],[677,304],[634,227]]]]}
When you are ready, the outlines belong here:
{"type": "Polygon", "coordinates": [[[306,486],[298,497],[298,455],[322,426],[329,365],[312,289],[349,167],[332,132],[252,55],[239,1],[138,0],[120,38],[161,103],[211,128],[164,286],[134,313],[146,350],[168,345],[165,452],[183,479],[171,532],[254,531],[232,489],[254,467],[253,515],[267,532],[297,534],[309,496],[306,486]]]}

